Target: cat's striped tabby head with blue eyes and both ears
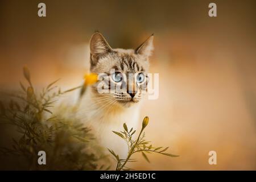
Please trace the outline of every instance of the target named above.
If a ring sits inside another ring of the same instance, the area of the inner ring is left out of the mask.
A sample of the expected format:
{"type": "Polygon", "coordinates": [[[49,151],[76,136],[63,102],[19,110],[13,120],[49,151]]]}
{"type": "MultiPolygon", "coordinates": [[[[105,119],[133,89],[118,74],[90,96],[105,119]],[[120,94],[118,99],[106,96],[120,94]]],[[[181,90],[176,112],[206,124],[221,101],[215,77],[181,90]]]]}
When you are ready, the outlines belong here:
{"type": "MultiPolygon", "coordinates": [[[[138,103],[146,92],[148,57],[153,49],[151,35],[137,49],[113,49],[104,36],[96,32],[90,39],[90,71],[102,75],[100,85],[93,86],[93,97],[124,107],[138,103]],[[109,92],[98,92],[98,88],[109,92]]],[[[104,103],[102,103],[104,104],[104,103]]]]}

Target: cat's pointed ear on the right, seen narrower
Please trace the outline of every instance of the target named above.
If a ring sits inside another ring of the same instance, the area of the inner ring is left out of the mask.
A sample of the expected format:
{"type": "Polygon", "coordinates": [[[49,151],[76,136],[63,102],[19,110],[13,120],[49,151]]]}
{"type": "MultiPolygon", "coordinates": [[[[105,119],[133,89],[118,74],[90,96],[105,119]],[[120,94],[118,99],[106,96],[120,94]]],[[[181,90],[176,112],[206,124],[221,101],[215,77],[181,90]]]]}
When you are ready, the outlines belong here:
{"type": "Polygon", "coordinates": [[[152,53],[152,50],[154,49],[153,46],[153,40],[154,40],[154,34],[152,34],[145,42],[141,44],[137,49],[135,49],[135,52],[139,55],[143,56],[150,56],[152,53]]]}

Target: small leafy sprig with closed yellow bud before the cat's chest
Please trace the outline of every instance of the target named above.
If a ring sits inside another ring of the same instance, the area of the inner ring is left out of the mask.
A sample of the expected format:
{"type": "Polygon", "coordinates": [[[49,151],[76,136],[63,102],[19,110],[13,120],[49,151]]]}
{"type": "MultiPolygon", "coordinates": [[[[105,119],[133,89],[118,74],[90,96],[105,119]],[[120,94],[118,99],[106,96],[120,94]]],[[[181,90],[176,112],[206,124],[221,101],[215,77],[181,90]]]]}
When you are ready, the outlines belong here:
{"type": "Polygon", "coordinates": [[[131,156],[137,152],[141,152],[144,159],[147,160],[147,162],[150,162],[148,159],[146,153],[158,153],[170,157],[177,157],[179,155],[173,155],[168,154],[165,151],[168,149],[168,147],[153,147],[152,144],[149,141],[146,141],[145,139],[145,133],[142,134],[143,130],[148,125],[148,117],[145,117],[142,122],[142,129],[139,133],[139,136],[136,140],[133,139],[134,134],[136,133],[136,130],[133,130],[133,128],[128,129],[126,123],[123,123],[123,131],[117,132],[113,131],[114,134],[118,135],[118,137],[121,137],[125,142],[127,143],[127,147],[129,149],[129,152],[127,154],[126,159],[119,159],[119,156],[115,154],[113,150],[109,150],[110,154],[114,156],[115,161],[117,162],[117,167],[115,168],[117,171],[121,170],[130,170],[131,168],[127,167],[126,164],[128,162],[137,162],[136,159],[131,159],[131,156]],[[142,135],[142,136],[141,136],[142,135]]]}

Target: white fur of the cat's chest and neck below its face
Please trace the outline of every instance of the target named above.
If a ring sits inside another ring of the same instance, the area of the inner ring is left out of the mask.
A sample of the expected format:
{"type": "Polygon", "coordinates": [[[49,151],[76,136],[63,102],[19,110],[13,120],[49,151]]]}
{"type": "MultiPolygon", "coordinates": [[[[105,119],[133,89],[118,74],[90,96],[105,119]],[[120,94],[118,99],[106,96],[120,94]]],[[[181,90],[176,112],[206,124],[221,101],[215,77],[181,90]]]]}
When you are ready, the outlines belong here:
{"type": "Polygon", "coordinates": [[[106,107],[97,105],[91,97],[91,90],[88,89],[81,102],[80,115],[84,115],[86,126],[92,127],[95,136],[101,146],[113,150],[120,159],[126,158],[127,143],[112,131],[122,131],[123,123],[131,129],[138,129],[139,103],[130,107],[121,107],[117,104],[110,104],[106,107]]]}

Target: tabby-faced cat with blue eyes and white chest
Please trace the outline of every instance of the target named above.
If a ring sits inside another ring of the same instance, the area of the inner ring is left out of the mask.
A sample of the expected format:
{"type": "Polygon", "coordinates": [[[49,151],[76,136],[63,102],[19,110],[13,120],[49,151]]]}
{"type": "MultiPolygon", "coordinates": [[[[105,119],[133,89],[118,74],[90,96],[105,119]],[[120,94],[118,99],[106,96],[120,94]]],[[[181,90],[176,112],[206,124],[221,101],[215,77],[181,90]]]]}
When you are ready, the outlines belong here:
{"type": "Polygon", "coordinates": [[[97,84],[90,86],[81,102],[82,111],[101,146],[112,149],[121,159],[127,156],[127,143],[112,131],[121,131],[123,123],[138,132],[141,129],[139,107],[146,90],[153,39],[151,35],[137,49],[113,49],[100,32],[90,38],[90,72],[104,73],[108,86],[123,85],[112,93],[99,93],[97,84]]]}

